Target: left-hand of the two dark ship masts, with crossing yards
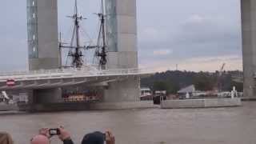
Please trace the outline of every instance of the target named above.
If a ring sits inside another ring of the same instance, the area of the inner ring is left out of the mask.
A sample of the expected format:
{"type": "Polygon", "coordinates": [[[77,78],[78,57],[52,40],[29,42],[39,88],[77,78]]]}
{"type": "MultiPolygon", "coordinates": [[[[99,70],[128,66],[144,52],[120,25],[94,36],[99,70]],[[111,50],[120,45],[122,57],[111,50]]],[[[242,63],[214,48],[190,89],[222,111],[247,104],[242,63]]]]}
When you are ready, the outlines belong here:
{"type": "Polygon", "coordinates": [[[62,42],[60,42],[60,49],[66,48],[70,49],[68,52],[67,57],[71,58],[71,63],[70,66],[67,66],[68,64],[68,58],[66,59],[66,67],[74,67],[74,68],[81,68],[83,66],[83,54],[82,50],[86,49],[86,46],[80,46],[80,36],[79,36],[79,31],[80,31],[80,26],[79,22],[82,21],[82,16],[78,15],[78,2],[75,0],[74,4],[74,15],[73,16],[68,16],[68,18],[72,18],[74,20],[74,30],[71,38],[71,43],[70,46],[63,46],[62,42]],[[75,44],[74,44],[75,42],[75,44]]]}

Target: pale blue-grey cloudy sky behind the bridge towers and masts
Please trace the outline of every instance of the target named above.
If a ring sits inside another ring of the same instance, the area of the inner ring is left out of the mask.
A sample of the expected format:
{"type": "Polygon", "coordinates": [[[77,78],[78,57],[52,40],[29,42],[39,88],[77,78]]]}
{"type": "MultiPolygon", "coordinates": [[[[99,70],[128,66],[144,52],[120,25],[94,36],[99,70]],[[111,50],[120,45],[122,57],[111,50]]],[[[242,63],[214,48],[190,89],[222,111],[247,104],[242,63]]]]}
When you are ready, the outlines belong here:
{"type": "MultiPolygon", "coordinates": [[[[97,36],[99,0],[78,0],[88,18],[85,42],[97,36]],[[88,36],[89,35],[89,36],[88,36]],[[89,38],[90,37],[90,38],[89,38]]],[[[58,2],[59,30],[69,40],[73,0],[58,2]]],[[[239,0],[138,0],[138,57],[141,67],[157,70],[242,70],[239,0]]],[[[0,5],[0,71],[26,70],[26,0],[0,5]]]]}

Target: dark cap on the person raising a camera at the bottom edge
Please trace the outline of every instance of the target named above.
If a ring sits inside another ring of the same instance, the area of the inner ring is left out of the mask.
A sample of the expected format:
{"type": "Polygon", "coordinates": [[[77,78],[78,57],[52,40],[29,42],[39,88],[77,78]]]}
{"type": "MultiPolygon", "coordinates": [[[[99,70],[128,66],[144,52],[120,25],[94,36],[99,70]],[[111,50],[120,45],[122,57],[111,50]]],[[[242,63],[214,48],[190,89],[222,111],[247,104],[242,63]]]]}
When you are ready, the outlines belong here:
{"type": "Polygon", "coordinates": [[[86,134],[82,139],[82,144],[104,144],[106,134],[96,131],[94,133],[86,134]]]}

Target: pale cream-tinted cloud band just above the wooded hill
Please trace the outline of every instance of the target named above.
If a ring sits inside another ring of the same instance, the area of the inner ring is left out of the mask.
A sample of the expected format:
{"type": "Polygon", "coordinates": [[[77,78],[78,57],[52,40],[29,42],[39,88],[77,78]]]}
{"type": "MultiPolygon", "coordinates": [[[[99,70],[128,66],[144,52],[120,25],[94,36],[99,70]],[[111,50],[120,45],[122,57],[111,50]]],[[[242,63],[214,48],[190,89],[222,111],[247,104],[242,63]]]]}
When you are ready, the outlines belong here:
{"type": "Polygon", "coordinates": [[[154,69],[157,71],[190,70],[190,71],[211,71],[219,70],[222,63],[226,63],[225,70],[242,70],[242,57],[237,55],[222,55],[218,57],[198,57],[185,60],[161,60],[154,62],[144,62],[140,64],[142,68],[154,69]]]}

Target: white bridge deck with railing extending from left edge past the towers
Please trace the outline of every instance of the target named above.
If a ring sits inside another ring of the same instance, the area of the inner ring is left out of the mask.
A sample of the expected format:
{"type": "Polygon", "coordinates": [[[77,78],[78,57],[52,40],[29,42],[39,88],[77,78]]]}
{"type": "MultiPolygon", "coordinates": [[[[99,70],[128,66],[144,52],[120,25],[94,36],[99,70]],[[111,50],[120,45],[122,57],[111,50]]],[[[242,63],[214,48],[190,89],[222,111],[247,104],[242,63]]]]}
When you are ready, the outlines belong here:
{"type": "Polygon", "coordinates": [[[74,86],[80,84],[107,84],[132,77],[144,77],[154,74],[150,69],[118,69],[118,70],[96,70],[96,69],[56,69],[56,70],[34,70],[0,73],[0,90],[33,90],[49,89],[62,86],[74,86]],[[14,81],[10,86],[6,82],[14,81]]]}

